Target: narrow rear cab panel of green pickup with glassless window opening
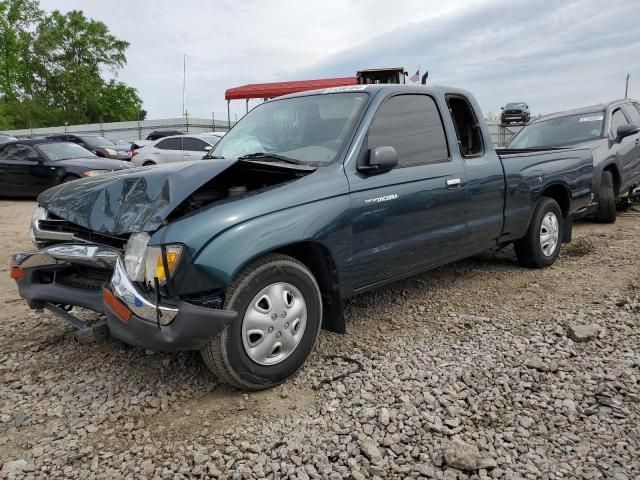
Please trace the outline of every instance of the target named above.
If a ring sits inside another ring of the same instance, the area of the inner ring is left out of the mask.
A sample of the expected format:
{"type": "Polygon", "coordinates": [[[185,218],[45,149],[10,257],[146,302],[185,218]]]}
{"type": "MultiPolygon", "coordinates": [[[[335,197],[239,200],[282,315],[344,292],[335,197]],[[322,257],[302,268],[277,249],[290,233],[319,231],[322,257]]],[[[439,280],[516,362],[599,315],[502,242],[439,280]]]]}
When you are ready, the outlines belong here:
{"type": "Polygon", "coordinates": [[[467,172],[467,221],[473,249],[486,250],[495,245],[503,226],[505,198],[502,163],[491,145],[485,145],[482,128],[475,114],[480,111],[460,94],[447,95],[447,105],[456,132],[457,149],[467,172]]]}

